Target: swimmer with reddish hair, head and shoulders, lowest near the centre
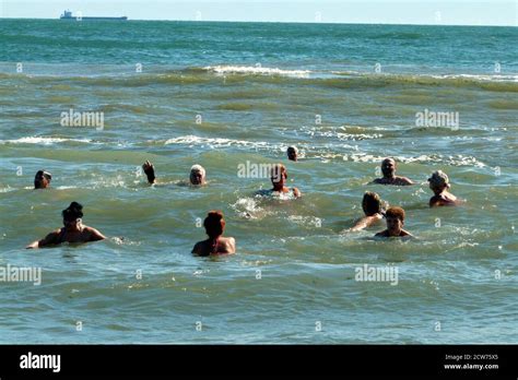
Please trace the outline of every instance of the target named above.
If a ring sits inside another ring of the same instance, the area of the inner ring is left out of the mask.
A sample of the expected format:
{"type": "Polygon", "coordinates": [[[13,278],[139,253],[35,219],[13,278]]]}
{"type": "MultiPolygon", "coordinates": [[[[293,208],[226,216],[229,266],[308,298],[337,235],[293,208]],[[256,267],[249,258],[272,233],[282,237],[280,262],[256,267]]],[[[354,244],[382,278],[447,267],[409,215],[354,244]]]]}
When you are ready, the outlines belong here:
{"type": "Polygon", "coordinates": [[[192,253],[198,256],[225,254],[236,252],[236,240],[233,237],[223,237],[225,219],[221,211],[211,211],[203,221],[203,227],[209,239],[198,241],[192,253]]]}

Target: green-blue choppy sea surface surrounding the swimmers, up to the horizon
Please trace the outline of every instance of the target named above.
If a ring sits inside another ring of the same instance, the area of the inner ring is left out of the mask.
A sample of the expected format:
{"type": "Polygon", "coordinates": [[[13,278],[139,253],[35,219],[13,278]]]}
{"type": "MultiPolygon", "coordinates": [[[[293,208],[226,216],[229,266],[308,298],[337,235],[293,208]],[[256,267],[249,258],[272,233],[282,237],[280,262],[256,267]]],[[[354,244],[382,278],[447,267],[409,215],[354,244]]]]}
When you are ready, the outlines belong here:
{"type": "Polygon", "coordinates": [[[518,343],[517,41],[516,27],[0,20],[0,268],[43,271],[0,282],[0,343],[518,343]],[[70,109],[103,128],[61,126],[70,109]],[[459,124],[420,126],[425,110],[459,124]],[[419,185],[367,185],[387,156],[419,185]],[[240,178],[247,162],[284,163],[303,198],[255,198],[269,178],[240,178]],[[207,187],[183,186],[193,164],[207,187]],[[38,169],[51,189],[32,189],[38,169]],[[464,205],[428,209],[436,169],[464,205]],[[366,190],[419,239],[341,234],[366,190]],[[25,250],[71,201],[109,238],[25,250]],[[238,252],[193,257],[214,209],[238,252]],[[356,281],[364,264],[397,285],[356,281]]]}

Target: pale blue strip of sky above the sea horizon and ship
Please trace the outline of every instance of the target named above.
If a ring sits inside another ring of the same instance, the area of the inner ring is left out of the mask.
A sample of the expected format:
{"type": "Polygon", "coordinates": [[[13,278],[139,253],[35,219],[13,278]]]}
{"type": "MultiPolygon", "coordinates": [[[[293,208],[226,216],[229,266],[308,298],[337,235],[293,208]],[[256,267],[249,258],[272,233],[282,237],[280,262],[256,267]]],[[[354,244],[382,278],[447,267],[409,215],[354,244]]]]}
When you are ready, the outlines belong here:
{"type": "Polygon", "coordinates": [[[518,26],[518,0],[0,0],[0,17],[518,26]]]}

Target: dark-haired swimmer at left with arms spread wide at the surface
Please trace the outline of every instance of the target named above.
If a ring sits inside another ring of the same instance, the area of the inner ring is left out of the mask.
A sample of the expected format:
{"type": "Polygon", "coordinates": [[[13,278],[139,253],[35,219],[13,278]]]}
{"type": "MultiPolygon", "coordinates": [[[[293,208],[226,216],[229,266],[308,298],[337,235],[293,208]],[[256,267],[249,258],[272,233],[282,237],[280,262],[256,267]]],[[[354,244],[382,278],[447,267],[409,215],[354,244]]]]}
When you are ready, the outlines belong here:
{"type": "Polygon", "coordinates": [[[62,228],[48,234],[42,240],[30,244],[26,248],[42,248],[60,245],[62,242],[89,242],[104,240],[106,237],[97,229],[83,225],[83,206],[78,202],[72,202],[68,209],[61,212],[63,216],[62,228]]]}

